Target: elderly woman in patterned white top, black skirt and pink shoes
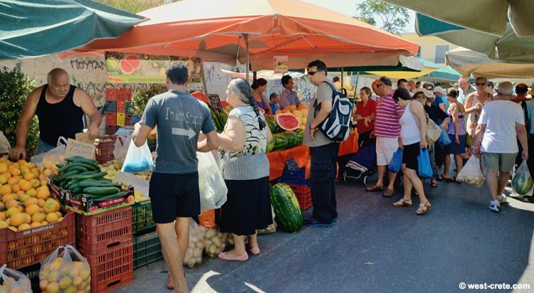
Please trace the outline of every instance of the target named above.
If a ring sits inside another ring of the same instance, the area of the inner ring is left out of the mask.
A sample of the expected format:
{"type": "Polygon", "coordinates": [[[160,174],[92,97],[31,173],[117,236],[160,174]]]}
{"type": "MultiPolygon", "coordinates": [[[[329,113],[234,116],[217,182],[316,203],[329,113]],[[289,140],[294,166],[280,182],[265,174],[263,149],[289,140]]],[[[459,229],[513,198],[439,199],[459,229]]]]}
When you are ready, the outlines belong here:
{"type": "Polygon", "coordinates": [[[219,258],[242,262],[248,260],[246,248],[253,255],[260,253],[256,230],[273,223],[266,156],[272,134],[246,80],[231,80],[226,95],[234,110],[229,113],[224,132],[219,134],[219,159],[228,187],[220,224],[221,232],[234,234],[234,249],[221,252],[219,258]]]}

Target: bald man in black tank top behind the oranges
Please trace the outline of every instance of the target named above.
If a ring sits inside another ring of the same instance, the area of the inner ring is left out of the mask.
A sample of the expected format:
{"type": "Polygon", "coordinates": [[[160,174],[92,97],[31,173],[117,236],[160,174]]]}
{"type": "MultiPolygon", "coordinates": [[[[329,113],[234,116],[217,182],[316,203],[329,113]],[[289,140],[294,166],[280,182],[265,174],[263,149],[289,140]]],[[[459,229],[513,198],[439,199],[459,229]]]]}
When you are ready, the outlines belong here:
{"type": "Polygon", "coordinates": [[[48,73],[48,83],[33,90],[22,109],[16,127],[16,146],[9,154],[11,159],[26,159],[26,138],[31,119],[39,118],[39,142],[36,154],[56,147],[59,137],[75,138],[83,131],[83,115],[89,117],[88,132],[98,137],[102,117],[85,90],[70,85],[68,73],[55,68],[48,73]]]}

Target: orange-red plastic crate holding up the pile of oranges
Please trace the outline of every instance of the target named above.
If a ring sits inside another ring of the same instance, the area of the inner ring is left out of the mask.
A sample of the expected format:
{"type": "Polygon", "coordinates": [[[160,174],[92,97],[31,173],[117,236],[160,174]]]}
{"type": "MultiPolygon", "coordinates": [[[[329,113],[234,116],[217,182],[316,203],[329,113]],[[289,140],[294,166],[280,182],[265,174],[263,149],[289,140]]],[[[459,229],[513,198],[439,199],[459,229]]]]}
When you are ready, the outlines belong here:
{"type": "Polygon", "coordinates": [[[14,232],[0,229],[0,264],[13,270],[35,265],[59,245],[75,245],[74,213],[67,213],[61,222],[14,232]]]}

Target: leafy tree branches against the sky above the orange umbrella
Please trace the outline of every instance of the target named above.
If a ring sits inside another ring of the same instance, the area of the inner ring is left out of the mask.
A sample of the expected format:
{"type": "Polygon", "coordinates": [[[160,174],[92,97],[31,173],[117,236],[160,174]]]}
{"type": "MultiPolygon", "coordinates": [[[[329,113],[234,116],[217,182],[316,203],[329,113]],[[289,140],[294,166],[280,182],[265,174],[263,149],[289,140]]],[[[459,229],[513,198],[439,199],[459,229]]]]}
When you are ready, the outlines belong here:
{"type": "Polygon", "coordinates": [[[376,26],[379,19],[384,31],[397,35],[404,32],[404,27],[409,23],[408,9],[381,0],[365,0],[356,5],[356,11],[355,18],[360,21],[376,26]]]}

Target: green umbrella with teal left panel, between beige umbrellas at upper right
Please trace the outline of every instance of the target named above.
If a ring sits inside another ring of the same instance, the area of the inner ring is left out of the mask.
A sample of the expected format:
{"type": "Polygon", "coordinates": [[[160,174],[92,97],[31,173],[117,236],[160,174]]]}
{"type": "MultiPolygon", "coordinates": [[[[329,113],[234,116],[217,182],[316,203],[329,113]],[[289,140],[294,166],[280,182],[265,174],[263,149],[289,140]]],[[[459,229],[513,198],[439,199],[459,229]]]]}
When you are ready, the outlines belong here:
{"type": "Polygon", "coordinates": [[[503,36],[495,36],[417,14],[416,31],[420,36],[436,36],[457,46],[486,54],[491,59],[534,63],[534,38],[518,37],[510,24],[503,36]]]}

